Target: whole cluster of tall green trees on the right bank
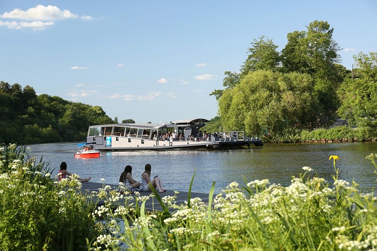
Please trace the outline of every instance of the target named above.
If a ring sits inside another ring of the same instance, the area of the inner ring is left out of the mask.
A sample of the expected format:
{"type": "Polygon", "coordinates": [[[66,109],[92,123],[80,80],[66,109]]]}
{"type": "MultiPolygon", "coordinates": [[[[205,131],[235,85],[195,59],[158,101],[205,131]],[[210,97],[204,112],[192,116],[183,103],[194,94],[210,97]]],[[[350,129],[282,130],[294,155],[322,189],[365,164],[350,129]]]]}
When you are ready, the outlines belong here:
{"type": "Polygon", "coordinates": [[[350,126],[376,127],[377,53],[354,55],[357,68],[348,70],[340,64],[334,29],[326,21],[306,28],[289,33],[281,51],[272,39],[254,39],[239,72],[225,72],[225,88],[210,93],[225,130],[280,141],[329,127],[338,117],[350,126]]]}

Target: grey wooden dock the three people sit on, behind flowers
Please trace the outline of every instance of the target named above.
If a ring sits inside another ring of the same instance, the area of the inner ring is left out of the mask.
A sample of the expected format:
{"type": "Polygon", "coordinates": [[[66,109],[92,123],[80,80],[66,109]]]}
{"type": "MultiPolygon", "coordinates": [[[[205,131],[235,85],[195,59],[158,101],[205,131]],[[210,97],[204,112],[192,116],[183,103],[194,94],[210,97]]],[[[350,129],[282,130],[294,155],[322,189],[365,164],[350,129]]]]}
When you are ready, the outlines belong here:
{"type": "MultiPolygon", "coordinates": [[[[99,188],[102,188],[104,186],[110,186],[113,190],[116,190],[118,188],[118,185],[113,184],[102,184],[102,183],[96,183],[96,182],[84,182],[82,183],[81,192],[92,192],[92,191],[98,191],[99,188]]],[[[178,191],[178,194],[175,194],[174,190],[166,190],[164,193],[159,193],[160,197],[163,198],[165,196],[176,196],[175,202],[177,205],[183,204],[185,201],[187,201],[188,198],[188,192],[178,191]]],[[[140,192],[142,196],[148,196],[150,194],[153,194],[152,192],[140,192]]],[[[209,201],[209,194],[207,193],[194,193],[191,192],[191,198],[199,197],[204,203],[208,203],[209,201]]],[[[98,206],[103,205],[104,201],[99,201],[98,206]]],[[[162,210],[162,207],[160,203],[157,201],[156,198],[152,199],[150,198],[147,200],[145,204],[146,210],[152,211],[152,210],[162,210]]],[[[170,210],[172,211],[172,210],[170,210]]]]}

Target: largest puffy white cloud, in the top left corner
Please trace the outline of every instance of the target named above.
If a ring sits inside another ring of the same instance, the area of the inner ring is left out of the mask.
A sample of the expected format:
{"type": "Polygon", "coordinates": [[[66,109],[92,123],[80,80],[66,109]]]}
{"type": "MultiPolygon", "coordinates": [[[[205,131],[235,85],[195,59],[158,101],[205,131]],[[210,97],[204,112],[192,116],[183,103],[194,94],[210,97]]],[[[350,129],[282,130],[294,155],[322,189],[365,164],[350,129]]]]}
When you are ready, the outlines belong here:
{"type": "MultiPolygon", "coordinates": [[[[69,10],[60,10],[56,6],[43,6],[37,5],[34,8],[30,8],[27,11],[21,9],[14,9],[11,12],[5,12],[0,15],[2,19],[16,19],[31,22],[3,22],[0,20],[0,26],[6,26],[9,29],[22,29],[22,28],[32,28],[34,30],[43,30],[48,26],[54,25],[53,21],[56,20],[66,20],[66,19],[77,19],[78,15],[71,13],[69,10]]],[[[84,15],[81,17],[82,20],[93,20],[92,17],[84,15]]]]}

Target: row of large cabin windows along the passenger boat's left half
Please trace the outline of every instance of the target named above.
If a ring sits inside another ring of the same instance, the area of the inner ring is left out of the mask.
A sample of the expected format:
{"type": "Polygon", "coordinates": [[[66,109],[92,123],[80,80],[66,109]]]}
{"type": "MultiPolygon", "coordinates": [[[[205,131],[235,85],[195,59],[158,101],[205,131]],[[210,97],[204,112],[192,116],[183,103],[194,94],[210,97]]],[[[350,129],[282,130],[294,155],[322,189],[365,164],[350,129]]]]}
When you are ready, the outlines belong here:
{"type": "Polygon", "coordinates": [[[89,127],[88,137],[92,136],[119,136],[150,139],[150,137],[159,137],[168,132],[173,132],[174,128],[146,129],[132,127],[89,127]]]}

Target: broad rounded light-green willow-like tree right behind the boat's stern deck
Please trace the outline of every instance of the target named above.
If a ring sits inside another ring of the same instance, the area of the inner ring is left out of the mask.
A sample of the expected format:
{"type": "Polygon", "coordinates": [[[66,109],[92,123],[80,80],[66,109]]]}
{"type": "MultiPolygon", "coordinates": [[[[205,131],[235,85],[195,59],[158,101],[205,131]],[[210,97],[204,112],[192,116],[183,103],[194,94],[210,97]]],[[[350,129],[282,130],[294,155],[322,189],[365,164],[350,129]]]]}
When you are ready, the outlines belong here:
{"type": "Polygon", "coordinates": [[[250,72],[219,99],[224,130],[244,130],[270,139],[286,129],[316,126],[319,102],[308,74],[250,72]]]}

